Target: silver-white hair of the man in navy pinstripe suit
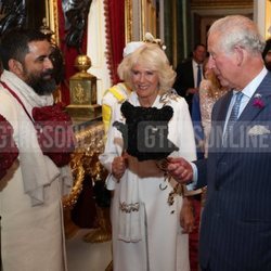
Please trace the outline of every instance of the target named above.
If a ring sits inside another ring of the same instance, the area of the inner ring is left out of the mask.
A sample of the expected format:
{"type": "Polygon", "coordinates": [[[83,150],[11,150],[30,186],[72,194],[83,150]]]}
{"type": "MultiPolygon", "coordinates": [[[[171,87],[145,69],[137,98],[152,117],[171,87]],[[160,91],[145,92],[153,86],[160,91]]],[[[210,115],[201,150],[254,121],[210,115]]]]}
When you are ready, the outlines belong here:
{"type": "Polygon", "coordinates": [[[242,15],[229,15],[216,21],[209,28],[208,36],[216,35],[217,46],[225,53],[240,46],[253,54],[261,53],[264,39],[255,23],[242,15]]]}

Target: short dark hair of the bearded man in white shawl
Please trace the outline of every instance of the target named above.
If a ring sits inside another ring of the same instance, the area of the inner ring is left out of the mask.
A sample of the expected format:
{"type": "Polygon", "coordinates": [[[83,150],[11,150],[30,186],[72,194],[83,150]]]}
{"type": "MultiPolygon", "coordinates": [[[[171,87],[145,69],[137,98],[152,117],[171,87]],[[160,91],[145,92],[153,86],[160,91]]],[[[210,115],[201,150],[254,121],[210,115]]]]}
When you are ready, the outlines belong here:
{"type": "Polygon", "coordinates": [[[48,36],[37,29],[13,29],[0,39],[0,60],[2,67],[9,69],[9,61],[14,59],[21,63],[29,52],[29,42],[48,40],[48,36]]]}

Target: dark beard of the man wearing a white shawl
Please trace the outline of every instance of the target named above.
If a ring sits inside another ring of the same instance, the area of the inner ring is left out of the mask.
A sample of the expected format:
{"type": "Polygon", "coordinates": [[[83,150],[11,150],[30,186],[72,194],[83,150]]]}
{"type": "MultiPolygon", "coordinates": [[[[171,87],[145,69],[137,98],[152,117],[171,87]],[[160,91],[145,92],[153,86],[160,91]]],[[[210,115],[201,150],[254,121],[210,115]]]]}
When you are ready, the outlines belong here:
{"type": "Polygon", "coordinates": [[[44,79],[46,76],[52,75],[52,70],[47,70],[40,75],[40,77],[29,77],[27,83],[34,89],[38,95],[48,95],[53,93],[56,89],[54,78],[44,79]]]}

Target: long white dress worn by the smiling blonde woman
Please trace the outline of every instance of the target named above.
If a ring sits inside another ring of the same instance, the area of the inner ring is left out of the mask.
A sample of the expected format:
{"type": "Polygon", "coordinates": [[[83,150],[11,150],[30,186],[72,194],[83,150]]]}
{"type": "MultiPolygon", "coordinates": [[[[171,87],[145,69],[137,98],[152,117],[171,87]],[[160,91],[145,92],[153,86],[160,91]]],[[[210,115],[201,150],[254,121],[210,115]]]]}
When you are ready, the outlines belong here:
{"type": "MultiPolygon", "coordinates": [[[[129,102],[139,106],[134,92],[131,93],[129,102]]],[[[160,108],[165,103],[173,108],[168,139],[180,149],[170,156],[195,159],[194,133],[185,100],[170,94],[167,98],[164,96],[162,102],[160,96],[157,96],[153,106],[160,108]]],[[[114,108],[113,121],[124,121],[119,107],[120,105],[116,105],[114,108]]],[[[100,156],[101,163],[108,171],[114,157],[119,156],[121,152],[120,132],[115,127],[111,127],[105,151],[100,156]]],[[[167,203],[176,181],[165,182],[163,173],[157,170],[154,162],[139,163],[136,158],[129,159],[128,169],[119,182],[112,176],[108,180],[115,181],[115,185],[109,185],[115,188],[112,199],[114,270],[189,271],[189,235],[183,234],[180,227],[182,196],[176,195],[171,206],[167,203]],[[134,188],[138,190],[141,211],[137,218],[131,217],[130,228],[126,229],[131,233],[131,240],[124,241],[120,234],[120,228],[124,228],[124,224],[121,224],[119,203],[122,194],[127,197],[132,197],[134,194],[130,190],[126,191],[126,184],[129,182],[131,185],[137,183],[134,188]]]]}

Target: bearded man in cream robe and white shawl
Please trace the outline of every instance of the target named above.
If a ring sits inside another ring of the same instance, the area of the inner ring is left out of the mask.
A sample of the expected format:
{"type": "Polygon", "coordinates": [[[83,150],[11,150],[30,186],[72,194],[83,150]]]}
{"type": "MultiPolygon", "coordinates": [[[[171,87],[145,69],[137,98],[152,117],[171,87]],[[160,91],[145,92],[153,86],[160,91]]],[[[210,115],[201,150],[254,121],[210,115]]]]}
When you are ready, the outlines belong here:
{"type": "MultiPolygon", "coordinates": [[[[18,147],[17,162],[0,180],[2,266],[7,271],[67,270],[61,199],[72,185],[72,175],[64,156],[44,151],[40,139],[51,133],[42,133],[36,121],[48,114],[64,116],[53,105],[56,85],[51,53],[52,44],[38,30],[12,30],[1,38],[0,114],[13,127],[18,147]]],[[[49,119],[51,124],[55,118],[49,119]]],[[[63,118],[57,118],[61,125],[59,119],[63,118]]],[[[51,143],[56,150],[52,139],[51,143]]]]}

